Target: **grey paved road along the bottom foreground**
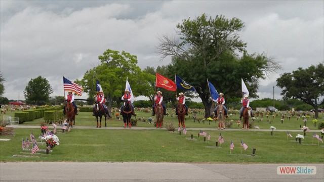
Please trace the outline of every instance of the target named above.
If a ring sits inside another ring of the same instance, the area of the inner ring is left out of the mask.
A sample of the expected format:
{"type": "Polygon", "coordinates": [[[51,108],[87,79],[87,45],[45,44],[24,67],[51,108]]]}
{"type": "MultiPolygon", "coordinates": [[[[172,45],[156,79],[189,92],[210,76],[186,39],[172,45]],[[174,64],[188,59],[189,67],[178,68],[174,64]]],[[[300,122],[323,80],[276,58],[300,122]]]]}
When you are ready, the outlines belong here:
{"type": "Polygon", "coordinates": [[[324,180],[324,164],[314,175],[278,175],[277,166],[296,164],[206,164],[150,162],[9,162],[0,163],[0,181],[278,181],[324,180]]]}

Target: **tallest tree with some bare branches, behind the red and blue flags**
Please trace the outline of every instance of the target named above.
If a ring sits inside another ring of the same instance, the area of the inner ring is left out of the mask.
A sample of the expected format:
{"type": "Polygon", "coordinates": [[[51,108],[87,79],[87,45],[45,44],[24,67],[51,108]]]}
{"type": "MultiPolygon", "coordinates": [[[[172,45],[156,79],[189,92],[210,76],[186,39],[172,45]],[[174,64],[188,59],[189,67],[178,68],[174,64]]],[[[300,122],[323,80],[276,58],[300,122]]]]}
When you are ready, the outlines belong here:
{"type": "Polygon", "coordinates": [[[205,117],[210,116],[212,105],[207,79],[218,92],[225,93],[226,102],[238,102],[241,98],[241,78],[249,88],[250,97],[256,95],[259,78],[265,78],[280,66],[265,54],[248,54],[246,43],[238,32],[244,23],[237,18],[205,14],[195,20],[185,19],[177,25],[179,38],[163,36],[159,39],[162,59],[172,56],[168,67],[192,84],[205,106],[205,117]],[[243,53],[238,57],[237,52],[243,53]]]}

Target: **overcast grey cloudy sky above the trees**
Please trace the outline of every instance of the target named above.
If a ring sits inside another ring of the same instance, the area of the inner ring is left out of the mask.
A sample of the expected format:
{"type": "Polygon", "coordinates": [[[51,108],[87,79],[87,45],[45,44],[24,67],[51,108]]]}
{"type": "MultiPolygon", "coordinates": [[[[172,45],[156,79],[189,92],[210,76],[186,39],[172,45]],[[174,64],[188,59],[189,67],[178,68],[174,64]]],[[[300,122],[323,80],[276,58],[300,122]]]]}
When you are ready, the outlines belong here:
{"type": "MultiPolygon", "coordinates": [[[[203,13],[241,19],[248,53],[280,62],[282,70],[260,80],[260,98],[273,97],[280,73],[324,61],[323,1],[1,0],[0,8],[3,96],[13,100],[24,100],[25,86],[39,75],[49,80],[51,96],[63,96],[62,76],[81,79],[107,49],[136,55],[142,69],[167,65],[170,59],[156,54],[157,37],[174,35],[183,19],[203,13]]],[[[277,87],[275,98],[281,98],[277,87]]]]}

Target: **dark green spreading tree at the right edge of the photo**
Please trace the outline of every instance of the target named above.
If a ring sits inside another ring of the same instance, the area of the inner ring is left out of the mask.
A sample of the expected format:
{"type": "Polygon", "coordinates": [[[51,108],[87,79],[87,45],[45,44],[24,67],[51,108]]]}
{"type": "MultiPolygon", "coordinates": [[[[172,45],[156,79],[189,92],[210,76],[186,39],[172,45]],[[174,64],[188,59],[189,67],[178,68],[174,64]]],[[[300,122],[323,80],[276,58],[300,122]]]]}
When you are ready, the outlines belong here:
{"type": "Polygon", "coordinates": [[[292,73],[284,73],[277,79],[277,86],[282,88],[284,99],[300,99],[311,105],[318,117],[318,106],[324,104],[324,66],[310,66],[306,69],[298,68],[292,73]]]}

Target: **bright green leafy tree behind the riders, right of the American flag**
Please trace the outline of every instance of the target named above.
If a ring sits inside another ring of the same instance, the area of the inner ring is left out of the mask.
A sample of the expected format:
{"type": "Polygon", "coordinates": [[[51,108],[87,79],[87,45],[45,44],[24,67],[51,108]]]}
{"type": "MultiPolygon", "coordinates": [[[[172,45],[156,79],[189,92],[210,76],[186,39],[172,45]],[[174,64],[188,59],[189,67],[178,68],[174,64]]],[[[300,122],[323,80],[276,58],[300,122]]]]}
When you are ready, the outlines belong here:
{"type": "MultiPolygon", "coordinates": [[[[84,86],[84,92],[90,98],[94,98],[96,93],[96,78],[98,78],[103,89],[105,98],[108,101],[108,108],[112,102],[116,102],[119,107],[121,96],[125,92],[126,78],[131,85],[133,94],[137,96],[147,96],[154,92],[149,85],[149,80],[154,80],[154,76],[143,72],[137,66],[137,57],[125,51],[106,50],[98,57],[100,64],[88,70],[82,80],[76,81],[84,86]]],[[[108,109],[108,110],[109,110],[108,109]]]]}

